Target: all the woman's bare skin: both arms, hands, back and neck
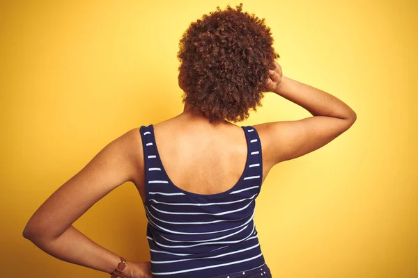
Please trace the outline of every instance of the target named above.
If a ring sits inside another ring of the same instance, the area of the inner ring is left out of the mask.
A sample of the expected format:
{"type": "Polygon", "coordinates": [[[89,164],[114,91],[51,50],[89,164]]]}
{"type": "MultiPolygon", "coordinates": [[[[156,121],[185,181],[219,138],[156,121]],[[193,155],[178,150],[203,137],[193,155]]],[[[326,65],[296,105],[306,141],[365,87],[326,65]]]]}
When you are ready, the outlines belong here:
{"type": "MultiPolygon", "coordinates": [[[[283,76],[280,65],[275,63],[276,70],[266,81],[269,92],[265,93],[302,106],[312,117],[253,125],[261,139],[263,181],[274,165],[323,147],[357,119],[343,101],[283,76]]],[[[178,85],[187,92],[181,73],[178,85]]],[[[215,194],[229,190],[240,179],[247,142],[239,125],[227,121],[210,124],[192,113],[186,103],[183,113],[154,124],[154,129],[162,163],[176,186],[192,193],[215,194]]],[[[94,243],[72,223],[127,181],[134,184],[144,202],[144,153],[139,128],[109,142],[59,187],[32,215],[23,236],[58,259],[111,273],[121,255],[94,243]]],[[[123,273],[125,278],[152,277],[149,261],[127,261],[123,273]]]]}

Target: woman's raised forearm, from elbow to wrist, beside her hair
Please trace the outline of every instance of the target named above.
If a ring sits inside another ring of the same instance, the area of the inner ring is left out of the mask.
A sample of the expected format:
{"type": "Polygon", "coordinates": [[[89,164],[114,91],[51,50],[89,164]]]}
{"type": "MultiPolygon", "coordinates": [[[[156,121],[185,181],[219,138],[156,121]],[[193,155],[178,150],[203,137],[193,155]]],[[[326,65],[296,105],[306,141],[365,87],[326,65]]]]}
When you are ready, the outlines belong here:
{"type": "Polygon", "coordinates": [[[305,108],[314,116],[353,119],[355,112],[340,99],[310,85],[282,76],[274,92],[305,108]]]}

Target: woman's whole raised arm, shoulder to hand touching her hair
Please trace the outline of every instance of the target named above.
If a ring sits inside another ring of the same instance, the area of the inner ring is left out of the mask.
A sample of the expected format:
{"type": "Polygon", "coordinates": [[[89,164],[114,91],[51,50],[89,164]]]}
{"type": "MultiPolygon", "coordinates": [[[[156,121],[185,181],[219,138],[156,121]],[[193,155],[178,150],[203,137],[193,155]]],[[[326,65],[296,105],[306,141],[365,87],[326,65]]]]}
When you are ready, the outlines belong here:
{"type": "Polygon", "coordinates": [[[357,119],[353,109],[343,101],[323,90],[281,76],[281,68],[270,74],[270,79],[273,81],[270,81],[270,87],[275,84],[271,87],[272,92],[313,115],[302,120],[254,125],[263,143],[263,161],[271,167],[327,145],[357,119]]]}

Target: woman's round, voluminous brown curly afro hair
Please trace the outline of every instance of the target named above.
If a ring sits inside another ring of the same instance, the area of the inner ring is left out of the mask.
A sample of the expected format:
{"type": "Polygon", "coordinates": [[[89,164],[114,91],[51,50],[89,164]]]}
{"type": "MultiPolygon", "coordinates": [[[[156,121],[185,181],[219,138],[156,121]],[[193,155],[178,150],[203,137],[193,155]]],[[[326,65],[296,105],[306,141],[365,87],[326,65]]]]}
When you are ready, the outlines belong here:
{"type": "Polygon", "coordinates": [[[211,123],[239,122],[249,117],[249,109],[261,105],[268,80],[274,70],[274,39],[265,19],[217,6],[189,25],[179,42],[179,79],[183,80],[183,104],[211,123]]]}

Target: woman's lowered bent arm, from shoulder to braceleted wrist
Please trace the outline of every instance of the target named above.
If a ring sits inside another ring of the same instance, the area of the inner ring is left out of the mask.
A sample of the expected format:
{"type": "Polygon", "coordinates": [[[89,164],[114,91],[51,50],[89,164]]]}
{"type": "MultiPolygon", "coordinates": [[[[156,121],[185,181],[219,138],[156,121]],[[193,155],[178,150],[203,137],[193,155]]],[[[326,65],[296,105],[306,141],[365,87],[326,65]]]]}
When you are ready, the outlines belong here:
{"type": "Polygon", "coordinates": [[[121,256],[94,243],[72,223],[111,190],[134,180],[136,133],[138,129],[132,129],[110,142],[58,188],[32,215],[23,236],[57,259],[113,272],[121,256]]]}

